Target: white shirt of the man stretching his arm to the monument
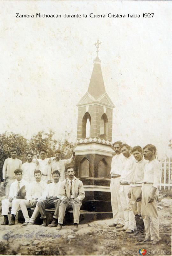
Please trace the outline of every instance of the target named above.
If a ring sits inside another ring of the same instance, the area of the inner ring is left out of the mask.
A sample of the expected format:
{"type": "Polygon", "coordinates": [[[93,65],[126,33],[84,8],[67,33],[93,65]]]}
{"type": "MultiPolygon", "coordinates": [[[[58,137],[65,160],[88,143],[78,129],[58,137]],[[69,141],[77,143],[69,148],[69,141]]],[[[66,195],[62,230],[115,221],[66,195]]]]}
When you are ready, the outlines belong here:
{"type": "Polygon", "coordinates": [[[65,179],[65,166],[67,164],[72,163],[73,161],[73,156],[71,156],[71,158],[69,159],[63,159],[63,160],[59,160],[56,161],[55,159],[53,159],[51,161],[51,168],[48,169],[48,180],[52,180],[52,176],[51,174],[53,173],[53,171],[58,170],[60,172],[60,181],[63,181],[65,179]]]}

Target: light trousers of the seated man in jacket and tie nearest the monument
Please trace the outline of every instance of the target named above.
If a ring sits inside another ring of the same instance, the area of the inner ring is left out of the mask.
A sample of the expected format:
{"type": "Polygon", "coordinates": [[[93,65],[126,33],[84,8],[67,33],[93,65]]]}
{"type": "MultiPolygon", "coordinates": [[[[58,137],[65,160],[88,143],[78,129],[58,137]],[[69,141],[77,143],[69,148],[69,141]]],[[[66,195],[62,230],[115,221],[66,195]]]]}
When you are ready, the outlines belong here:
{"type": "Polygon", "coordinates": [[[79,203],[75,204],[74,201],[68,200],[67,204],[64,204],[63,201],[61,201],[61,204],[59,206],[59,218],[58,223],[63,224],[63,219],[65,216],[66,210],[73,209],[73,216],[74,216],[74,223],[79,223],[79,215],[80,215],[80,208],[81,208],[81,201],[79,203]]]}

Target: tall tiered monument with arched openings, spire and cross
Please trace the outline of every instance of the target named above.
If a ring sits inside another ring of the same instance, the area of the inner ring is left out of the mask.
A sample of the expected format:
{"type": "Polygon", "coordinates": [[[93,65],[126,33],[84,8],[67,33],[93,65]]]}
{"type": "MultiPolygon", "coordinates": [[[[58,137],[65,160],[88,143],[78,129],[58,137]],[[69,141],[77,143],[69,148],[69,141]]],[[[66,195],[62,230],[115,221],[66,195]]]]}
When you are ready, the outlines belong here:
{"type": "Polygon", "coordinates": [[[76,177],[82,180],[85,199],[81,210],[95,212],[97,219],[112,217],[110,170],[114,151],[112,140],[112,111],[115,107],[107,95],[98,57],[94,60],[88,91],[77,104],[77,146],[75,148],[76,177]]]}

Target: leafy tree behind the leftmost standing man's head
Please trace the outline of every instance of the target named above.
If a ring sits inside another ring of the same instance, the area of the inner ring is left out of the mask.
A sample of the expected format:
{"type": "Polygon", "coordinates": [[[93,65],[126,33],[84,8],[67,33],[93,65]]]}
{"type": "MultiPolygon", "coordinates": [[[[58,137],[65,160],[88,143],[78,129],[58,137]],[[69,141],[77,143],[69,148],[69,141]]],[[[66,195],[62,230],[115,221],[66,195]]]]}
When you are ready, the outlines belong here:
{"type": "Polygon", "coordinates": [[[2,178],[2,168],[6,158],[11,157],[11,149],[17,149],[17,158],[22,161],[25,158],[27,150],[27,140],[20,134],[13,132],[4,132],[0,134],[0,173],[2,178]]]}

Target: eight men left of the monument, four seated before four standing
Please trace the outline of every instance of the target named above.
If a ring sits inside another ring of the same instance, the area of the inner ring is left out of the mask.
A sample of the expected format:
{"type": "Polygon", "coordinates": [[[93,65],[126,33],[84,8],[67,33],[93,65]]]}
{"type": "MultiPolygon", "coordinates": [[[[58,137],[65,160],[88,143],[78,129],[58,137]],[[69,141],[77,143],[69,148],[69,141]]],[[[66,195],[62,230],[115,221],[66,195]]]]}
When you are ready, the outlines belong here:
{"type": "Polygon", "coordinates": [[[73,209],[74,231],[78,230],[81,201],[85,197],[82,181],[75,177],[73,168],[65,166],[72,163],[75,157],[61,160],[61,151],[55,151],[55,157],[46,158],[46,150],[40,150],[40,159],[33,159],[32,152],[27,153],[27,162],[22,164],[17,159],[17,149],[11,150],[11,158],[7,158],[3,166],[3,182],[6,198],[2,200],[2,225],[14,225],[15,216],[21,209],[25,223],[23,226],[33,225],[39,213],[43,219],[42,226],[46,226],[46,209],[55,208],[53,220],[49,227],[60,230],[67,209],[73,209]],[[34,209],[29,218],[27,208],[34,209]],[[8,213],[11,208],[11,221],[8,213]]]}

